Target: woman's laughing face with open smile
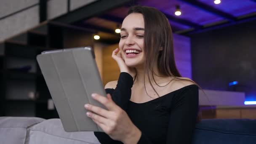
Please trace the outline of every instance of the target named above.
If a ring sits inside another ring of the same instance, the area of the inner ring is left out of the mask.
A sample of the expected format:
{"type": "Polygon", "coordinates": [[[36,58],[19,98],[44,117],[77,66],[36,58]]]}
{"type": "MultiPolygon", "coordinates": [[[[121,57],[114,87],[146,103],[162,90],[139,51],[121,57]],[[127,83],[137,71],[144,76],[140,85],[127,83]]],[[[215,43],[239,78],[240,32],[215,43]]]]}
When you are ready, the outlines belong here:
{"type": "Polygon", "coordinates": [[[145,61],[144,31],[141,13],[131,13],[123,20],[119,48],[128,67],[138,67],[145,61]]]}

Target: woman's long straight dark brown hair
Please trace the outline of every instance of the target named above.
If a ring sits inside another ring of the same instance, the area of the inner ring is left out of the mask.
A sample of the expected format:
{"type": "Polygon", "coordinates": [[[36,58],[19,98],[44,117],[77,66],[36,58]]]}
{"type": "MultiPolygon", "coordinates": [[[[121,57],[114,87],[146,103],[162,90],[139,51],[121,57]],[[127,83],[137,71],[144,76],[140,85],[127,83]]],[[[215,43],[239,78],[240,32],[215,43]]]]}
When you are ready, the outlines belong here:
{"type": "MultiPolygon", "coordinates": [[[[157,68],[159,70],[160,77],[174,77],[174,79],[176,80],[187,80],[180,78],[181,74],[176,67],[173,50],[173,35],[171,26],[166,16],[156,8],[147,6],[133,6],[129,9],[128,15],[131,13],[141,13],[144,18],[144,54],[146,57],[144,68],[147,73],[149,84],[151,85],[153,90],[157,93],[150,80],[150,77],[152,77],[155,82],[154,75],[156,75],[156,73],[153,70],[155,62],[157,62],[157,68]]],[[[134,81],[135,79],[136,76],[134,78],[134,81]]],[[[172,80],[170,80],[169,83],[171,83],[172,80]]],[[[197,85],[197,83],[192,80],[188,81],[191,81],[192,83],[197,85]]],[[[166,85],[168,85],[169,83],[167,83],[166,85]]],[[[201,88],[199,85],[197,86],[201,88]]],[[[144,87],[147,93],[145,79],[144,87]]],[[[148,93],[147,95],[149,96],[148,93]]],[[[158,93],[157,95],[159,96],[158,93]]],[[[198,116],[200,117],[200,115],[198,116]]]]}

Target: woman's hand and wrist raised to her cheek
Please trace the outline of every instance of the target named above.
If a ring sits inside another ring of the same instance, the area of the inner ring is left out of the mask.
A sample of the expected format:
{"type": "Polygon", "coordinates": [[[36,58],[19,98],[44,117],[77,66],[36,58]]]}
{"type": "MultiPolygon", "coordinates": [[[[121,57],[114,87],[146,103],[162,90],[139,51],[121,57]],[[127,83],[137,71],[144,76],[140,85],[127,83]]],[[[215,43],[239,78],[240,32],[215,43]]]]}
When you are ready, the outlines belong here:
{"type": "Polygon", "coordinates": [[[135,68],[134,67],[128,67],[125,64],[125,61],[122,58],[122,53],[119,50],[119,48],[116,48],[113,52],[112,52],[112,58],[115,59],[115,61],[117,61],[117,64],[120,68],[120,72],[127,72],[128,74],[130,74],[133,78],[136,75],[135,72],[135,68]]]}

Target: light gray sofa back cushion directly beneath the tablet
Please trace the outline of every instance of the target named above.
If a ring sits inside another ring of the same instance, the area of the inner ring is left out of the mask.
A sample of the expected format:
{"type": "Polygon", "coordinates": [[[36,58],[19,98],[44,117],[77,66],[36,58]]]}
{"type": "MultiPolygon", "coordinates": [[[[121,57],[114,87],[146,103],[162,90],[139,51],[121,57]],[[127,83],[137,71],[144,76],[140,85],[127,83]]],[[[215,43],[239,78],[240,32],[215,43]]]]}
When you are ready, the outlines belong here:
{"type": "Polygon", "coordinates": [[[49,119],[29,128],[29,144],[100,144],[93,132],[66,132],[60,119],[49,119]]]}

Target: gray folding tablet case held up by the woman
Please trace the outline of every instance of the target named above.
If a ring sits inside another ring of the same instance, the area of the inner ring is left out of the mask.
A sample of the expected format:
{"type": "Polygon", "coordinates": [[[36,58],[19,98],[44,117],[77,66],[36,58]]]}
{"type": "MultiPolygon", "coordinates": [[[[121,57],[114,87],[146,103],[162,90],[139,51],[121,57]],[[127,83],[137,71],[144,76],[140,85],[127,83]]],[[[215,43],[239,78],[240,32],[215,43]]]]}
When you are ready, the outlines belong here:
{"type": "Polygon", "coordinates": [[[106,96],[92,48],[68,48],[45,51],[37,62],[51,93],[64,130],[102,131],[86,116],[86,103],[105,108],[91,97],[106,96]]]}

